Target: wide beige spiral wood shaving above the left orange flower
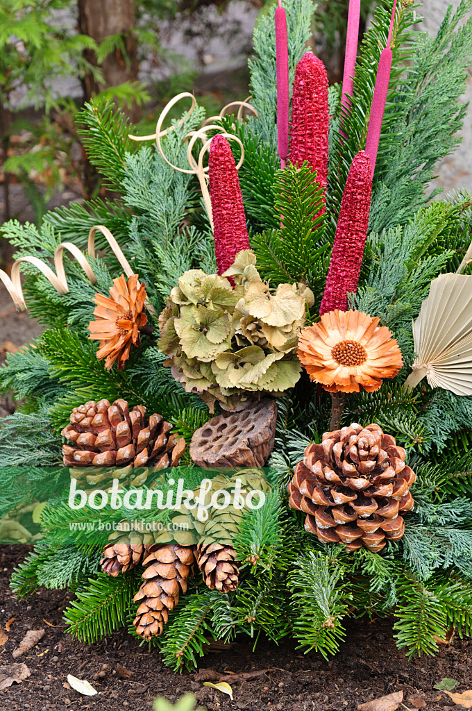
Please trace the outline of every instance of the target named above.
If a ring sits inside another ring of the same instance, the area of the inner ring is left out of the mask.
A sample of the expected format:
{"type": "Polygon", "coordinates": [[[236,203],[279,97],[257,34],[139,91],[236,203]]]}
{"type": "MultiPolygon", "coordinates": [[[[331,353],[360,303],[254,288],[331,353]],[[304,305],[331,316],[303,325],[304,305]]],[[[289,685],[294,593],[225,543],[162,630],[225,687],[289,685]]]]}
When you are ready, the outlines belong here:
{"type": "MultiPolygon", "coordinates": [[[[114,252],[114,255],[116,255],[117,257],[117,260],[122,265],[124,273],[127,275],[127,277],[131,277],[131,275],[134,274],[132,267],[129,266],[129,262],[124,256],[122,250],[120,249],[117,240],[115,240],[115,238],[113,237],[112,232],[110,232],[109,229],[104,225],[95,225],[95,227],[92,227],[89,232],[87,244],[87,251],[89,257],[95,257],[95,233],[97,232],[97,230],[99,230],[99,232],[102,232],[102,235],[104,235],[108,244],[110,245],[110,247],[112,247],[112,252],[114,252]]],[[[73,245],[72,242],[62,242],[60,245],[58,245],[58,247],[55,248],[54,252],[55,273],[53,272],[53,269],[48,266],[48,264],[38,259],[38,257],[20,257],[19,260],[16,260],[16,262],[14,262],[13,267],[11,267],[11,277],[9,277],[6,272],[0,269],[0,280],[4,283],[6,290],[11,296],[11,299],[13,299],[17,311],[26,311],[26,302],[23,296],[23,289],[21,288],[20,266],[22,262],[33,264],[33,267],[39,269],[39,271],[44,274],[46,279],[48,279],[48,281],[53,284],[53,287],[55,288],[56,292],[58,292],[58,294],[69,293],[68,281],[65,277],[64,269],[65,250],[70,252],[70,254],[75,257],[77,262],[79,262],[90,284],[97,283],[97,277],[95,276],[95,272],[93,271],[92,267],[90,267],[90,264],[87,261],[87,257],[85,257],[84,253],[81,252],[80,249],[76,247],[76,245],[73,245]]]]}

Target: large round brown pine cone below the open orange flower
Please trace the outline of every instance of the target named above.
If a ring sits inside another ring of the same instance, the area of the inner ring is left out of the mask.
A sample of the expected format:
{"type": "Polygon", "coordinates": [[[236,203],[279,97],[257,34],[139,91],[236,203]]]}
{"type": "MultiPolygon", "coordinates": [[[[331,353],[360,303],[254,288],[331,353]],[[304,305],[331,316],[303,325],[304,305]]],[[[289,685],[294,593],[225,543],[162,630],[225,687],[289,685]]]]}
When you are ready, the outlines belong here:
{"type": "Polygon", "coordinates": [[[386,538],[402,538],[399,512],[414,506],[409,488],[416,475],[405,458],[406,451],[377,424],[326,432],[296,465],[289,504],[307,514],[306,530],[322,542],[378,552],[386,538]]]}

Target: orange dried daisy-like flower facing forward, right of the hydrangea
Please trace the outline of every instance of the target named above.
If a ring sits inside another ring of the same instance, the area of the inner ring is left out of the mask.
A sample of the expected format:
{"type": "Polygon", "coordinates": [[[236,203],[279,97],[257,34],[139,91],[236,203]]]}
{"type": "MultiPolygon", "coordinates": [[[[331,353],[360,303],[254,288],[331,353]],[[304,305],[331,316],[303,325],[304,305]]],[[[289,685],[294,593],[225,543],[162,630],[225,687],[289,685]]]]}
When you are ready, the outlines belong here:
{"type": "Polygon", "coordinates": [[[382,378],[394,378],[402,352],[380,319],[361,311],[329,311],[318,324],[301,331],[299,359],[311,380],[329,392],[378,390],[382,378]]]}

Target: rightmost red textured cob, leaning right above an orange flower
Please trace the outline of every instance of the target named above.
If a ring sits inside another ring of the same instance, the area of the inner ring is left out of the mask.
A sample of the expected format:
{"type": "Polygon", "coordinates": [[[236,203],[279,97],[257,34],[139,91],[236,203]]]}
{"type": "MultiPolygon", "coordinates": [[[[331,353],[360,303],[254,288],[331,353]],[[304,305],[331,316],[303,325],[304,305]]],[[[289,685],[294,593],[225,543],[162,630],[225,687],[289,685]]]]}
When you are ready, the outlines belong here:
{"type": "Polygon", "coordinates": [[[358,288],[360,265],[369,226],[372,178],[370,158],[365,151],[354,156],[334,238],[320,314],[339,309],[348,311],[348,294],[358,288]]]}

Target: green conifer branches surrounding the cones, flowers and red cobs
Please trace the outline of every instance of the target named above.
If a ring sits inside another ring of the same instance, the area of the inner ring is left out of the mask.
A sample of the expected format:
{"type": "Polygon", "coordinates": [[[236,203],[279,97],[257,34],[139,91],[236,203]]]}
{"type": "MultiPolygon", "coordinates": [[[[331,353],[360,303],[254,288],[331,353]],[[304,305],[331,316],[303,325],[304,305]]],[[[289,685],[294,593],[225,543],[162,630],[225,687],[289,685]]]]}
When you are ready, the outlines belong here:
{"type": "MultiPolygon", "coordinates": [[[[293,78],[309,38],[313,4],[285,0],[284,6],[293,78]]],[[[457,145],[456,131],[463,120],[458,97],[472,50],[472,21],[466,19],[471,8],[472,0],[462,0],[456,14],[448,11],[436,38],[417,33],[411,5],[403,3],[397,11],[371,229],[358,292],[350,295],[353,308],[377,316],[390,328],[404,358],[397,378],[385,380],[376,392],[347,397],[341,422],[376,422],[407,449],[407,462],[417,473],[417,503],[404,516],[404,537],[389,542],[380,554],[365,549],[348,553],[343,545],[319,543],[304,531],[304,516],[287,506],[286,486],[294,466],[311,442],[321,442],[329,426],[331,396],[302,373],[295,387],[277,397],[268,501],[260,510],[245,512],[234,539],[239,587],[222,595],[205,587],[197,572],[169,614],[162,636],[151,640],[156,653],[176,670],[195,668],[213,641],[230,643],[240,634],[250,636],[254,646],[261,635],[274,643],[292,636],[299,648],[327,658],[345,639],[349,615],[374,619],[393,613],[397,644],[410,656],[434,653],[435,636],[444,637],[451,625],[459,635],[471,634],[472,397],[434,390],[426,380],[412,392],[403,388],[414,360],[412,320],[431,280],[456,271],[472,237],[471,197],[461,193],[429,203],[426,191],[437,162],[457,145]]],[[[387,39],[390,11],[389,3],[377,4],[365,33],[349,116],[341,116],[340,87],[330,89],[330,160],[322,215],[321,192],[308,167],[279,171],[273,6],[257,23],[250,65],[252,103],[259,115],[248,121],[234,116],[220,121],[245,150],[240,185],[257,268],[271,288],[297,282],[313,289],[309,323],[318,319],[350,162],[365,146],[374,68],[387,39]],[[341,120],[347,138],[340,133],[341,120]]],[[[203,109],[196,107],[171,124],[162,137],[171,162],[187,165],[186,135],[204,118],[203,109]]],[[[18,400],[16,413],[0,429],[0,515],[31,501],[48,502],[42,514],[44,538],[14,573],[12,587],[21,597],[41,585],[71,587],[76,597],[65,612],[68,631],[94,643],[122,626],[134,630],[132,600],[142,570],[108,577],[99,571],[100,546],[94,535],[85,530],[79,545],[74,540],[71,521],[79,525],[100,518],[113,523],[121,520],[122,512],[89,507],[75,510],[71,518],[66,495],[70,473],[59,466],[60,431],[73,407],[88,400],[122,398],[130,407],[144,405],[148,412],[158,412],[176,434],[191,442],[210,413],[163,366],[165,355],[157,347],[159,313],[183,272],[215,273],[215,255],[195,176],[174,171],[149,144],[131,141],[127,122],[107,103],[87,105],[80,122],[90,159],[112,189],[113,201],[97,198],[60,208],[45,216],[41,228],[11,221],[4,225],[4,235],[18,257],[35,255],[51,263],[63,240],[85,251],[90,228],[107,226],[146,284],[149,328],[124,370],[106,370],[97,360],[97,345],[87,331],[92,299],[97,292],[108,294],[112,279],[123,272],[100,235],[100,257],[87,257],[97,277],[93,286],[68,257],[65,295],[32,265],[21,267],[30,313],[47,330],[36,343],[9,355],[0,368],[0,392],[13,392],[18,400]]],[[[234,151],[238,159],[240,148],[234,151]]],[[[470,272],[468,265],[464,273],[470,272]]],[[[193,490],[205,476],[217,474],[197,469],[188,454],[181,465],[161,480],[165,495],[171,477],[183,478],[193,490]]],[[[153,482],[146,479],[144,486],[153,482]]],[[[131,520],[134,513],[128,513],[131,520]]],[[[168,511],[146,510],[142,517],[165,524],[168,511]]]]}

